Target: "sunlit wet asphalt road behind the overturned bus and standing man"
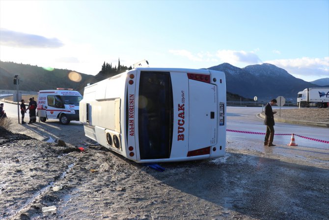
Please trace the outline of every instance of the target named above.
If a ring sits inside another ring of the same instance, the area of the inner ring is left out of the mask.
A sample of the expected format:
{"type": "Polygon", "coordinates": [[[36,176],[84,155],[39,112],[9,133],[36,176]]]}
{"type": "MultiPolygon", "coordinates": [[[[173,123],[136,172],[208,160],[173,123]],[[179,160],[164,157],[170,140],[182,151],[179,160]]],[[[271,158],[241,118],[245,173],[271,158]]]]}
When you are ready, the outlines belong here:
{"type": "MultiPolygon", "coordinates": [[[[294,108],[294,107],[282,107],[294,108]]],[[[7,116],[13,118],[14,122],[18,122],[17,105],[4,104],[4,110],[7,116]],[[15,121],[16,118],[16,121],[15,121]]],[[[279,114],[279,107],[274,106],[274,110],[279,114]]],[[[264,120],[257,117],[257,114],[262,112],[262,107],[227,107],[227,129],[235,131],[250,131],[264,133],[266,127],[263,125],[264,120]]],[[[20,116],[21,117],[21,116],[20,116]]],[[[28,113],[25,116],[28,121],[28,113]]],[[[58,120],[52,120],[54,123],[58,120]]],[[[48,121],[50,122],[50,121],[48,121]]],[[[57,123],[55,123],[57,125],[57,123]]],[[[54,124],[54,126],[56,126],[54,124]]],[[[72,121],[71,124],[79,125],[80,122],[72,121]]],[[[329,144],[322,143],[310,139],[301,138],[295,135],[295,142],[297,147],[287,146],[291,141],[292,133],[302,135],[312,139],[319,139],[329,141],[329,129],[325,127],[292,125],[287,123],[276,122],[275,126],[274,148],[271,148],[272,154],[283,155],[285,157],[304,157],[304,158],[320,158],[329,160],[329,144]]],[[[226,133],[227,140],[242,141],[242,144],[237,148],[238,150],[250,149],[257,152],[265,153],[269,149],[263,146],[263,134],[247,134],[241,132],[226,133]],[[252,146],[245,146],[243,140],[252,141],[255,144],[252,146]]]]}

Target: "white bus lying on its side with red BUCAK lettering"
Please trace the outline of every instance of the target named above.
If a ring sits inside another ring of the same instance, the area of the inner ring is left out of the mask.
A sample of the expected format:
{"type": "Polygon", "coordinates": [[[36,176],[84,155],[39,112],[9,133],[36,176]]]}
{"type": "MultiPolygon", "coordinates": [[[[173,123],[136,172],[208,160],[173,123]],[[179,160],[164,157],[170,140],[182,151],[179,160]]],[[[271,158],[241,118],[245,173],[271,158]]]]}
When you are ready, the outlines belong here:
{"type": "Polygon", "coordinates": [[[139,163],[222,157],[226,83],[206,69],[135,68],[84,88],[85,136],[139,163]]]}

